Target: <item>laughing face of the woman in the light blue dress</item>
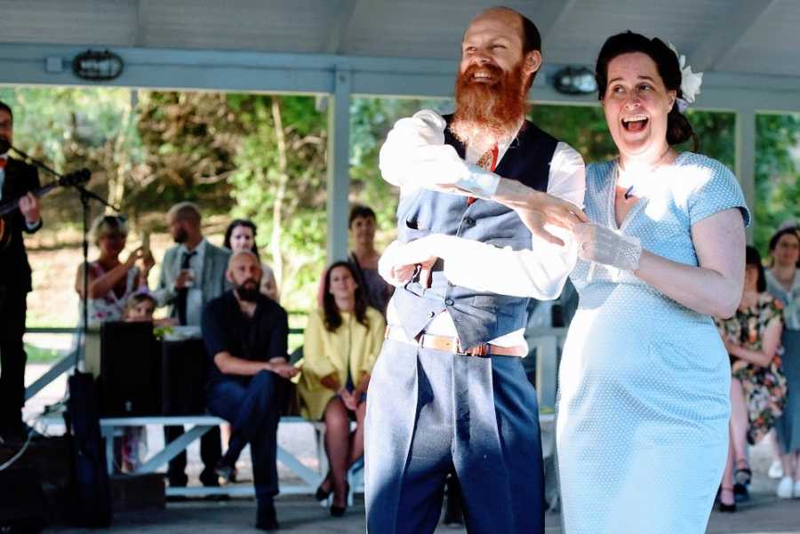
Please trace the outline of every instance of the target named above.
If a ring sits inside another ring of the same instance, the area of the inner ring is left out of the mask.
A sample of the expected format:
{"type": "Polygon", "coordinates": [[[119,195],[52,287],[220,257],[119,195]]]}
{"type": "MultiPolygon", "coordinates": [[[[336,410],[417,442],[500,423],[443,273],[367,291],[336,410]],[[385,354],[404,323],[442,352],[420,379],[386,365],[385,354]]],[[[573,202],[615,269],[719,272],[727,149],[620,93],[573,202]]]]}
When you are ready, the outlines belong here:
{"type": "Polygon", "coordinates": [[[667,116],[676,100],[655,62],[642,52],[608,63],[603,110],[620,155],[656,162],[668,148],[667,116]]]}

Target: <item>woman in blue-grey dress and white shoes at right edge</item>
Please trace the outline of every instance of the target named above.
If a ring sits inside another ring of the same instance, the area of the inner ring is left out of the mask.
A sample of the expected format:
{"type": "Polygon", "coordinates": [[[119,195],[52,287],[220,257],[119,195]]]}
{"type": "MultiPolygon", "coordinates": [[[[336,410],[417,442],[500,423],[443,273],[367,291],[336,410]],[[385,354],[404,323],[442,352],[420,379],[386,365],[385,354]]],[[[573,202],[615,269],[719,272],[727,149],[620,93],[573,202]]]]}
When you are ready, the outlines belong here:
{"type": "Polygon", "coordinates": [[[783,478],[778,483],[780,498],[800,498],[800,232],[796,227],[779,230],[770,239],[772,267],[766,272],[767,291],[783,303],[785,328],[783,372],[788,395],[783,415],[776,424],[782,456],[783,478]]]}

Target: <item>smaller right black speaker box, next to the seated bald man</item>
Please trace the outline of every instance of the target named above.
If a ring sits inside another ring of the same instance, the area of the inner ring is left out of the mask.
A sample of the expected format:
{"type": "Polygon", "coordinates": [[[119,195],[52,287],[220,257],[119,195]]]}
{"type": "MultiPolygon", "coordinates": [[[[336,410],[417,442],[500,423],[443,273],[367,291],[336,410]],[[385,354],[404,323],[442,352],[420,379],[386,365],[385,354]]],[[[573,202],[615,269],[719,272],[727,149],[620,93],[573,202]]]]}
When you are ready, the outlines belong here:
{"type": "Polygon", "coordinates": [[[202,339],[164,341],[161,351],[161,393],[164,415],[205,413],[208,356],[202,339]]]}

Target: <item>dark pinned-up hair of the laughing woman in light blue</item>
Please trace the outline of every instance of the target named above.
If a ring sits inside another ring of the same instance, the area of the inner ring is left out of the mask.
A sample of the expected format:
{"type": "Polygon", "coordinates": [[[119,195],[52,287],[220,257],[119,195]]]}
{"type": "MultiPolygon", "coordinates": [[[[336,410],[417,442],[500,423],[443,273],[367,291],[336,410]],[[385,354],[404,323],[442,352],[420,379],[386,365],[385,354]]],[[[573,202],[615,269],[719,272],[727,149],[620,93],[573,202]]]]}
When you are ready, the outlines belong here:
{"type": "MultiPolygon", "coordinates": [[[[656,64],[659,76],[667,90],[675,91],[676,97],[679,99],[684,97],[684,92],[681,91],[681,67],[676,53],[672,52],[667,44],[658,37],[648,39],[628,30],[606,39],[603,48],[600,49],[595,66],[598,100],[603,100],[605,97],[605,90],[608,86],[608,64],[617,56],[633,52],[647,54],[656,64]]],[[[667,116],[667,142],[670,145],[680,145],[689,139],[693,141],[692,150],[697,152],[700,141],[692,129],[692,124],[689,124],[689,119],[678,109],[676,100],[667,116]]]]}

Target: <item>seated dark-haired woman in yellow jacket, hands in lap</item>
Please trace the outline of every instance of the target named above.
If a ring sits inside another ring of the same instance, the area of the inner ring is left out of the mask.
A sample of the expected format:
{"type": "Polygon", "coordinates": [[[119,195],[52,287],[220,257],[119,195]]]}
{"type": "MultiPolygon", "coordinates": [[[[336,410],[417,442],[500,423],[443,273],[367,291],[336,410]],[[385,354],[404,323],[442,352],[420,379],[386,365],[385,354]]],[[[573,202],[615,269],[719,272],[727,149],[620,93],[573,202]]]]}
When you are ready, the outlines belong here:
{"type": "Polygon", "coordinates": [[[333,491],[331,514],[347,507],[348,468],[364,454],[364,415],[370,373],[383,343],[383,315],[367,306],[364,289],[346,261],[325,272],[323,309],[308,317],[303,373],[298,391],[305,418],[325,423],[325,452],[331,466],[316,498],[333,491]],[[356,431],[350,434],[350,420],[356,431]]]}

